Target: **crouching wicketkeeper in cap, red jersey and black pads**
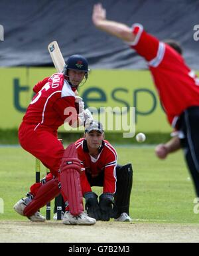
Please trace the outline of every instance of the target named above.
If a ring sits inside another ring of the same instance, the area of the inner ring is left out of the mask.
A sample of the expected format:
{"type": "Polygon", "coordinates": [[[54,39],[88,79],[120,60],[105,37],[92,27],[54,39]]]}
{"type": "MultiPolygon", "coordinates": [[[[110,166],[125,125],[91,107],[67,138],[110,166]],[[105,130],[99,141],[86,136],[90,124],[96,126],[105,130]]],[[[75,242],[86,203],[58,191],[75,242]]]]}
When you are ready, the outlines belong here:
{"type": "Polygon", "coordinates": [[[117,165],[117,152],[107,140],[104,140],[103,127],[98,122],[88,124],[84,138],[75,144],[81,163],[80,180],[88,215],[101,221],[109,221],[110,218],[114,218],[115,221],[131,221],[131,164],[117,165]],[[92,191],[92,186],[103,187],[99,199],[92,191]]]}

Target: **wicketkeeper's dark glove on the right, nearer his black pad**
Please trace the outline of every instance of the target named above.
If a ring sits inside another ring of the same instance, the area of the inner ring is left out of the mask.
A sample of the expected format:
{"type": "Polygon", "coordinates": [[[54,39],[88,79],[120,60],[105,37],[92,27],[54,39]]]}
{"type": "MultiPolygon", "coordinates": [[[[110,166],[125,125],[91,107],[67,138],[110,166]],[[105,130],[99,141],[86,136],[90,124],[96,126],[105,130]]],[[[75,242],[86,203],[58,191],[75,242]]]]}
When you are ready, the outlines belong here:
{"type": "Polygon", "coordinates": [[[116,206],[113,202],[112,193],[103,193],[100,195],[100,211],[101,221],[109,221],[110,218],[115,217],[116,206]]]}

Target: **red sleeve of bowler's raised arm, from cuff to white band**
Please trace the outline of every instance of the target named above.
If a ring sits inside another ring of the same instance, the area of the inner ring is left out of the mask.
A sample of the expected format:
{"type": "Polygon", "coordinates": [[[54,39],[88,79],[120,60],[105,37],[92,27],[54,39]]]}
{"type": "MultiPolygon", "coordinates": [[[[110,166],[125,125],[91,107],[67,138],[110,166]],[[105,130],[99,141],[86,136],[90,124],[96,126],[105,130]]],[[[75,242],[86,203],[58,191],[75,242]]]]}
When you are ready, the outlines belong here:
{"type": "Polygon", "coordinates": [[[146,61],[153,60],[157,56],[159,40],[144,31],[140,24],[132,26],[132,33],[135,35],[135,40],[130,43],[131,48],[135,49],[146,61]]]}

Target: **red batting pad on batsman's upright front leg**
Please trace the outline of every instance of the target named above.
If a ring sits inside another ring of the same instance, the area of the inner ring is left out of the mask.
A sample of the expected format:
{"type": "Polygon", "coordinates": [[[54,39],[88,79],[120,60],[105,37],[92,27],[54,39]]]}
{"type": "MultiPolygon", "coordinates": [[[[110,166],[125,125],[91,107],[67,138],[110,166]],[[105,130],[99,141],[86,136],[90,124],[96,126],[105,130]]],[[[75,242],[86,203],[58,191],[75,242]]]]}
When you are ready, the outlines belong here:
{"type": "Polygon", "coordinates": [[[61,164],[60,182],[62,193],[68,198],[68,206],[72,215],[80,215],[84,211],[82,188],[80,184],[80,160],[74,144],[64,151],[61,164]]]}

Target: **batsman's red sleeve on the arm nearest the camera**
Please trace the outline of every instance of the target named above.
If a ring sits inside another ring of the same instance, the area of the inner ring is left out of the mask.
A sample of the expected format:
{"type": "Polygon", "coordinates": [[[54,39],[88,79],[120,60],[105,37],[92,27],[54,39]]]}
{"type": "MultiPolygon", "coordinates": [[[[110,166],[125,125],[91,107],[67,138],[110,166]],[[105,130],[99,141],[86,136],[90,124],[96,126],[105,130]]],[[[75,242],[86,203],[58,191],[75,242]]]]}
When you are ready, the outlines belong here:
{"type": "Polygon", "coordinates": [[[74,96],[66,96],[59,98],[53,104],[54,110],[63,121],[67,121],[70,125],[78,120],[78,113],[75,108],[74,96]],[[66,120],[66,118],[68,120],[66,120]]]}

